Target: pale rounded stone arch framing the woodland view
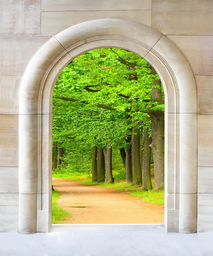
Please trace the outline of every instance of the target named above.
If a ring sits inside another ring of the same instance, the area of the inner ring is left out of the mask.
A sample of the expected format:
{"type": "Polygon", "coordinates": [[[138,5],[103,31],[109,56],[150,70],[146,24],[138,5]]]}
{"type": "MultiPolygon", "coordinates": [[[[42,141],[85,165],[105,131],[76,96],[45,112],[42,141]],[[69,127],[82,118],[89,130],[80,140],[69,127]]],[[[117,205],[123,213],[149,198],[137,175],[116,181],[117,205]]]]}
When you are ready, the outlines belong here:
{"type": "Polygon", "coordinates": [[[165,89],[165,227],[196,232],[197,90],[168,38],[130,20],[90,20],[63,30],[29,62],[20,87],[19,232],[51,227],[52,92],[63,68],[91,49],[117,47],[145,58],[165,89]]]}

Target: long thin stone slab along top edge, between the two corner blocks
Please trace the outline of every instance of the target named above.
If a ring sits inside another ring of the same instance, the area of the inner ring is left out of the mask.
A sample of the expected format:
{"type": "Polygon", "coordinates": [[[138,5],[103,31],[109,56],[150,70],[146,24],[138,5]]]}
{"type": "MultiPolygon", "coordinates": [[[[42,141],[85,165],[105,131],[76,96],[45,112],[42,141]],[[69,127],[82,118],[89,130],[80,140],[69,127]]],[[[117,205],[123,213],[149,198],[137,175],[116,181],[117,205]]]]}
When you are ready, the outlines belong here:
{"type": "Polygon", "coordinates": [[[42,0],[42,11],[150,10],[151,0],[42,0]]]}

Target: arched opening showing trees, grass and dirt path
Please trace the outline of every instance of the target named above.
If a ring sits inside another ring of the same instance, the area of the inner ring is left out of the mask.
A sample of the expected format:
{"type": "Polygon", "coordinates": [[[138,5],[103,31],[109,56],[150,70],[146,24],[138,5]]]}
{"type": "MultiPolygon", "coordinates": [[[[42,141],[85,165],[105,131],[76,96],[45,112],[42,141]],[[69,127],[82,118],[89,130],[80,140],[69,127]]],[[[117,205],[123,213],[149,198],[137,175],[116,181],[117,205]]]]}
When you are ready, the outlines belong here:
{"type": "Polygon", "coordinates": [[[52,223],[164,223],[164,133],[147,61],[117,48],[72,60],[53,92],[52,223]]]}

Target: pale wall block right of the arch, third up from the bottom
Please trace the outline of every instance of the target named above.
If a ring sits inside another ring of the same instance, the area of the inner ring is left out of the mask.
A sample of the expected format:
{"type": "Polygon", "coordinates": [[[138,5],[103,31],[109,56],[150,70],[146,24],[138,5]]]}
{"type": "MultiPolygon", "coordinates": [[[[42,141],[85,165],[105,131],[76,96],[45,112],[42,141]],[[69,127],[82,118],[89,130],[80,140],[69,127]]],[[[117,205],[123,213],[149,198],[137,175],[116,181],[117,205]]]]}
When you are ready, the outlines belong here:
{"type": "Polygon", "coordinates": [[[213,193],[213,167],[198,167],[198,193],[213,193]]]}

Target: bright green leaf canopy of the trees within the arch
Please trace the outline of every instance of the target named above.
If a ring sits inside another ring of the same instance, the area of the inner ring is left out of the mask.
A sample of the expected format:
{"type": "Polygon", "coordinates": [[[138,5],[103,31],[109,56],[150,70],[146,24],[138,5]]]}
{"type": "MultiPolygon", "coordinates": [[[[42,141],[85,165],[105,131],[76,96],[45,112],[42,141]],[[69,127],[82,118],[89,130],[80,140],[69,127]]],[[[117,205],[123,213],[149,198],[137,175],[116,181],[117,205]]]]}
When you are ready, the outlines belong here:
{"type": "Polygon", "coordinates": [[[150,67],[138,55],[115,48],[86,52],[65,67],[53,93],[53,141],[65,148],[63,167],[85,172],[91,148],[105,147],[108,140],[113,149],[127,148],[130,117],[151,132],[147,110],[164,111],[164,105],[151,101],[152,88],[159,87],[153,78],[159,77],[150,74],[150,67]]]}

